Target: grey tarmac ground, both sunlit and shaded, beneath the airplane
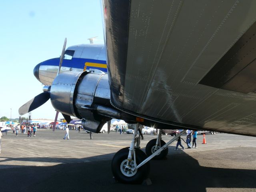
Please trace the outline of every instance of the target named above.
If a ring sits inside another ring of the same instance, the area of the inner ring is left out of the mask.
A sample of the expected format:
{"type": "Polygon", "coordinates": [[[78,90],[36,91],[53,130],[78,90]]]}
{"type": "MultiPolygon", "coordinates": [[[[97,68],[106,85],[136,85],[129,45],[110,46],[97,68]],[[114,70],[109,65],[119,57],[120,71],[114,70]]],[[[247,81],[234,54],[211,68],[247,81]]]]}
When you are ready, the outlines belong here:
{"type": "MultiPolygon", "coordinates": [[[[38,129],[36,137],[4,132],[0,154],[0,192],[196,191],[256,192],[256,138],[232,134],[198,135],[198,148],[175,151],[150,161],[152,185],[130,185],[113,179],[111,160],[130,145],[131,134],[89,134],[38,129]]],[[[156,136],[144,135],[142,150],[156,136]]],[[[173,138],[163,135],[168,142],[173,138]]],[[[182,136],[186,138],[186,136],[182,136]]],[[[182,145],[186,144],[182,141],[182,145]]],[[[179,147],[180,148],[180,147],[179,147]]]]}

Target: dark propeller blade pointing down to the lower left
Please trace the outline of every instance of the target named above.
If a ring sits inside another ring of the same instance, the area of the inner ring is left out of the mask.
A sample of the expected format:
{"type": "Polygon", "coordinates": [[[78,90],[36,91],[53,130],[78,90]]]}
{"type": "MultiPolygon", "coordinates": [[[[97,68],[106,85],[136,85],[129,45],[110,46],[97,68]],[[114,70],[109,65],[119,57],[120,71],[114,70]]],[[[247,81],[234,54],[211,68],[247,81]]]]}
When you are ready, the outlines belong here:
{"type": "Polygon", "coordinates": [[[19,114],[24,115],[24,114],[40,107],[41,105],[43,105],[49,99],[50,99],[50,93],[49,92],[42,92],[39,95],[32,98],[31,100],[29,100],[28,102],[26,102],[24,105],[22,105],[19,108],[19,114]]]}

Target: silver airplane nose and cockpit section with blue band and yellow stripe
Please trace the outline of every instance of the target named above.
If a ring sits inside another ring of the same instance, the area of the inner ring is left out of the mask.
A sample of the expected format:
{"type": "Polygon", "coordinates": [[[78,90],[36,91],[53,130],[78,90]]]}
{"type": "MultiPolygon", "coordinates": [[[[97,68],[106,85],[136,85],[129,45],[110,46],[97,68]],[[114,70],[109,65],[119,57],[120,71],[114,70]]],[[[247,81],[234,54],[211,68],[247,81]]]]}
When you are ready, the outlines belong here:
{"type": "MultiPolygon", "coordinates": [[[[34,76],[43,85],[50,86],[57,75],[59,64],[60,58],[41,62],[35,66],[34,76]]],[[[104,44],[80,44],[66,49],[60,73],[77,73],[85,70],[107,73],[104,44]]]]}

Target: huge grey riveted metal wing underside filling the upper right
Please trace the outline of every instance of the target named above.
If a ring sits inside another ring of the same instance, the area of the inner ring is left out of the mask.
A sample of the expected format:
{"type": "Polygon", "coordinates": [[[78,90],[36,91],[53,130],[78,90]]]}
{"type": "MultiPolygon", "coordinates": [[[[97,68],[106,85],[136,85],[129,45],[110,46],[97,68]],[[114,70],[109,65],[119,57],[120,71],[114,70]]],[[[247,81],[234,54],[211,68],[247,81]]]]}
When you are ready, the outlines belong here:
{"type": "Polygon", "coordinates": [[[256,136],[256,1],[104,0],[111,103],[256,136]]]}

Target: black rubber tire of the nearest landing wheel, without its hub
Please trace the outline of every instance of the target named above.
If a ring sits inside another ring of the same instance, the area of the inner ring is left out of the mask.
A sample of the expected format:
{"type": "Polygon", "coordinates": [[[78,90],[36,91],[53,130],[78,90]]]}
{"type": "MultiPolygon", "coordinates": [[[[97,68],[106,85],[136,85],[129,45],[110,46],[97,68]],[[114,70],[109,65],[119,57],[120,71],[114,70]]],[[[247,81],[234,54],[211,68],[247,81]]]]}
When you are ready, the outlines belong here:
{"type": "MultiPolygon", "coordinates": [[[[136,148],[135,152],[137,165],[147,158],[146,154],[142,150],[136,148]]],[[[147,162],[146,164],[138,168],[134,176],[125,176],[124,174],[122,174],[120,166],[121,163],[127,159],[128,154],[129,147],[122,148],[121,150],[116,152],[111,162],[112,173],[115,179],[118,180],[118,182],[126,184],[141,184],[144,179],[148,178],[148,174],[150,172],[150,163],[147,162]]]]}

